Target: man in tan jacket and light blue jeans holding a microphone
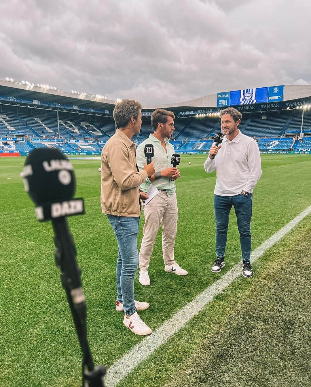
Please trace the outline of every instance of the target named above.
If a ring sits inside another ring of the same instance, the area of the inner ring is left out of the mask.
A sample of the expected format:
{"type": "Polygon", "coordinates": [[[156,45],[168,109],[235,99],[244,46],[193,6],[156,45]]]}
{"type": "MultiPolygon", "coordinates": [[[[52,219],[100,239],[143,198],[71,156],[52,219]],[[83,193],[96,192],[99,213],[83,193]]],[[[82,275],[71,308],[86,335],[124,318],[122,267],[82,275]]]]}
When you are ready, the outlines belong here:
{"type": "Polygon", "coordinates": [[[134,300],[134,277],[138,267],[137,235],[140,218],[139,185],[154,174],[154,164],[136,166],[135,145],[131,138],[140,133],[142,105],[129,99],[117,103],[113,117],[116,133],[102,150],[101,195],[102,212],[107,214],[117,238],[117,300],[116,310],[124,310],[123,324],[138,335],[151,329],[140,319],[136,310],[149,307],[147,302],[134,300]],[[134,172],[135,171],[135,172],[134,172]]]}

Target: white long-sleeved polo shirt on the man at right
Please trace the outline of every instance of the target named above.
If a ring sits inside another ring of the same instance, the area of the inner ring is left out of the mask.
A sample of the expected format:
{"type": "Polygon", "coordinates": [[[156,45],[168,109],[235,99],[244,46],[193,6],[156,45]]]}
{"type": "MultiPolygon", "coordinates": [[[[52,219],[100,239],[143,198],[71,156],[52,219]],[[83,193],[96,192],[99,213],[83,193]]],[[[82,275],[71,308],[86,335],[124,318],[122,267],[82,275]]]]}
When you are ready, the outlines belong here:
{"type": "Polygon", "coordinates": [[[233,196],[243,190],[253,192],[261,176],[258,144],[240,131],[232,141],[224,136],[218,154],[214,160],[207,158],[204,169],[207,173],[216,169],[215,195],[233,196]]]}

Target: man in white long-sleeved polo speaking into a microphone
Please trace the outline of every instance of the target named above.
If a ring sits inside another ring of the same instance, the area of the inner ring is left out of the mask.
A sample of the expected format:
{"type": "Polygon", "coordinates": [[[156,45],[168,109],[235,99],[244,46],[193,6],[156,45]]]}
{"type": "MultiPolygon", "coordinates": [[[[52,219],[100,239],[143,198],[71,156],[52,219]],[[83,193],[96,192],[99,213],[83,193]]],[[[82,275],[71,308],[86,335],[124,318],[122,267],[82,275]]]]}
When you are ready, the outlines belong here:
{"type": "Polygon", "coordinates": [[[257,142],[238,129],[242,118],[238,110],[226,108],[220,112],[220,117],[223,142],[211,147],[204,163],[206,172],[216,170],[217,176],[214,189],[216,260],[211,270],[218,273],[225,266],[229,214],[233,206],[240,233],[242,274],[244,277],[252,277],[252,199],[253,189],[261,176],[260,152],[257,142]]]}

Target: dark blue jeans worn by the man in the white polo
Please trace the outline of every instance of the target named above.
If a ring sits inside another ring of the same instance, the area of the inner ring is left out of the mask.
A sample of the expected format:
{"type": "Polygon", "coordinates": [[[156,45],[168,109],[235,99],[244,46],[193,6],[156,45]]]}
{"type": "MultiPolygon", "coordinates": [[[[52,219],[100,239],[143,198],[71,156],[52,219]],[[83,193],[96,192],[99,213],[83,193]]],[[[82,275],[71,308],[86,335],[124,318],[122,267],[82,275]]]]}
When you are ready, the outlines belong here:
{"type": "Polygon", "coordinates": [[[214,195],[214,212],[216,220],[216,256],[225,257],[227,231],[231,207],[237,216],[238,232],[242,250],[242,260],[251,259],[251,217],[253,195],[219,196],[214,195]]]}

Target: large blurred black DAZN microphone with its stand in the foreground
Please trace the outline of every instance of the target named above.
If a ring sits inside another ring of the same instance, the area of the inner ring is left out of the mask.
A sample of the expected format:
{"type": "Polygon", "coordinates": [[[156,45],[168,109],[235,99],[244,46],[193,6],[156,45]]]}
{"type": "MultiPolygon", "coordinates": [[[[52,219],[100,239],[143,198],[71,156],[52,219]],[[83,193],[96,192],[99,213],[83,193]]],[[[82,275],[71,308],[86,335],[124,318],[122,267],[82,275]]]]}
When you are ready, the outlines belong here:
{"type": "Polygon", "coordinates": [[[55,262],[67,295],[83,355],[82,387],[103,387],[103,365],[94,368],[86,333],[86,305],[76,247],[66,216],[84,214],[83,199],[73,199],[76,181],[73,166],[58,149],[38,148],[29,153],[21,173],[24,188],[35,203],[40,222],[52,221],[55,262]]]}

